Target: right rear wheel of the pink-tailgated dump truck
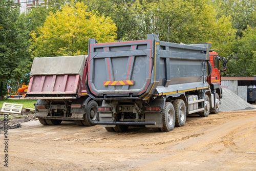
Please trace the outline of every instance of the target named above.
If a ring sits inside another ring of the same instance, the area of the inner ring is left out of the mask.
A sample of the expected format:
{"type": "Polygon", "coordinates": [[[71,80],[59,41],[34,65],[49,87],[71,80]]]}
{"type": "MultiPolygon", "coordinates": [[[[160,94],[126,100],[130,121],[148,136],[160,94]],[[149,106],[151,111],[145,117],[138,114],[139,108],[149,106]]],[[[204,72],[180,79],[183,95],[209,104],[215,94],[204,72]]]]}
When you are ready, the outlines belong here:
{"type": "Polygon", "coordinates": [[[97,112],[98,104],[96,101],[92,100],[87,104],[86,114],[84,114],[84,119],[82,123],[85,126],[93,126],[95,125],[95,121],[99,121],[99,113],[97,112]]]}

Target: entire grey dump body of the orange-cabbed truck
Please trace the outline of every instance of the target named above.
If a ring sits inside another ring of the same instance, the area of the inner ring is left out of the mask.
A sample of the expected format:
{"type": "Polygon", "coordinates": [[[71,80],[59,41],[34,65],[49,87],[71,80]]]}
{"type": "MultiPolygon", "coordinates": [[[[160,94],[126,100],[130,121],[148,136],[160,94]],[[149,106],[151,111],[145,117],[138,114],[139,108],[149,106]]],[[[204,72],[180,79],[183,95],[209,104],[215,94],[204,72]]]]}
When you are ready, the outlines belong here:
{"type": "Polygon", "coordinates": [[[150,99],[208,88],[210,43],[181,45],[146,40],[89,41],[88,93],[96,99],[150,99]]]}

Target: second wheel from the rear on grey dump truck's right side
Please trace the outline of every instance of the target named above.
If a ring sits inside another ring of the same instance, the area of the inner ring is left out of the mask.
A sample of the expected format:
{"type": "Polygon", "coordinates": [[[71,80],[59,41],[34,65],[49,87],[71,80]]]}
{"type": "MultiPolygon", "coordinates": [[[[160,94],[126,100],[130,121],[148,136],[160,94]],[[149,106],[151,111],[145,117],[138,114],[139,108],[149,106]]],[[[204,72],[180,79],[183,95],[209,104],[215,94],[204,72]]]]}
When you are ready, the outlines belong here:
{"type": "Polygon", "coordinates": [[[183,100],[177,99],[173,103],[175,111],[175,126],[183,126],[186,122],[186,105],[183,100]]]}

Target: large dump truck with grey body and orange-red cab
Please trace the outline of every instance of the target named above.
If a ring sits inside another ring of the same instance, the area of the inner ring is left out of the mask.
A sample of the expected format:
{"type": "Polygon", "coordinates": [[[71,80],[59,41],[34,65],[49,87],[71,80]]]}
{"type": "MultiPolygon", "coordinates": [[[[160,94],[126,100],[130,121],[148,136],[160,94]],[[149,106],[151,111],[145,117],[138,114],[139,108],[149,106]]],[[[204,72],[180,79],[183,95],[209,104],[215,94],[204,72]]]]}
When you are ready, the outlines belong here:
{"type": "Polygon", "coordinates": [[[95,124],[110,132],[129,126],[167,132],[189,114],[218,113],[226,59],[210,47],[164,42],[155,34],[102,44],[89,39],[87,93],[102,101],[95,124]]]}

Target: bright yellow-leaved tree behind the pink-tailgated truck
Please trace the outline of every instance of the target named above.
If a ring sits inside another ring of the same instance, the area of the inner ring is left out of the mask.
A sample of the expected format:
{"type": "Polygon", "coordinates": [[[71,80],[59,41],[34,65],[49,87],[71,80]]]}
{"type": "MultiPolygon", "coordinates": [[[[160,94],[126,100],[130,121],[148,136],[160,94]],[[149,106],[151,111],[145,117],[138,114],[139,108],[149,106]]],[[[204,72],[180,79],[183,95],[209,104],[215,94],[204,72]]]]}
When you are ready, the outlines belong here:
{"type": "Polygon", "coordinates": [[[50,13],[36,34],[32,32],[33,57],[71,56],[88,53],[88,39],[113,42],[117,27],[110,17],[88,12],[83,3],[65,5],[50,13]]]}

